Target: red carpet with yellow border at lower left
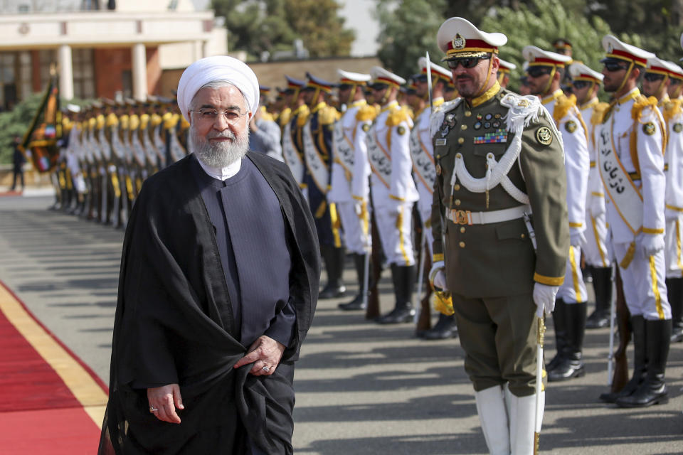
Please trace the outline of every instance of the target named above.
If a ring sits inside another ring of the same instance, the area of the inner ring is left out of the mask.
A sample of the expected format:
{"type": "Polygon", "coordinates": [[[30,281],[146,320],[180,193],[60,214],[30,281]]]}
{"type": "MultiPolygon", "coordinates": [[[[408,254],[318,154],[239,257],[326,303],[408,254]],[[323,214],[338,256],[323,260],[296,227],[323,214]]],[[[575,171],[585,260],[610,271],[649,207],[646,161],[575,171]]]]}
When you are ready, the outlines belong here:
{"type": "Polygon", "coordinates": [[[0,282],[0,452],[95,454],[105,391],[0,282]]]}

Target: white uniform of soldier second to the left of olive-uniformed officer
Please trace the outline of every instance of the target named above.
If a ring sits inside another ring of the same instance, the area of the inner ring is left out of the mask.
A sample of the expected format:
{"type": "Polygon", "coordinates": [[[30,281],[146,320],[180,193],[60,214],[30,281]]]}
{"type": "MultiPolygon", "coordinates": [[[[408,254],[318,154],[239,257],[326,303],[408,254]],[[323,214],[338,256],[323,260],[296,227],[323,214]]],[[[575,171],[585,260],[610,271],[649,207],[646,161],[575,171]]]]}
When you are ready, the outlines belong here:
{"type": "Polygon", "coordinates": [[[397,101],[383,106],[368,132],[367,141],[373,171],[370,191],[386,261],[411,266],[415,264],[412,208],[419,196],[412,176],[409,145],[413,122],[402,112],[405,111],[397,101]]]}

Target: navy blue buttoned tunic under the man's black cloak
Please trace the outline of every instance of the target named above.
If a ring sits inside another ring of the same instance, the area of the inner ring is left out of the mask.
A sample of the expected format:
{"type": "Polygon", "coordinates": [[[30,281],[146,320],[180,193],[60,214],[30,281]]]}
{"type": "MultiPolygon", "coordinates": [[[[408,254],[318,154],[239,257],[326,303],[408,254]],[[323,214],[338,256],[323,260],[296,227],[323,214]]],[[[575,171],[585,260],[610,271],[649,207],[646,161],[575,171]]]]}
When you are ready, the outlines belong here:
{"type": "MultiPolygon", "coordinates": [[[[194,177],[216,232],[235,335],[247,347],[261,335],[288,346],[296,321],[289,277],[282,273],[291,268],[290,233],[277,196],[248,159],[226,181],[208,176],[193,161],[194,177]]],[[[223,315],[229,310],[219,311],[225,323],[228,319],[223,315]]]]}

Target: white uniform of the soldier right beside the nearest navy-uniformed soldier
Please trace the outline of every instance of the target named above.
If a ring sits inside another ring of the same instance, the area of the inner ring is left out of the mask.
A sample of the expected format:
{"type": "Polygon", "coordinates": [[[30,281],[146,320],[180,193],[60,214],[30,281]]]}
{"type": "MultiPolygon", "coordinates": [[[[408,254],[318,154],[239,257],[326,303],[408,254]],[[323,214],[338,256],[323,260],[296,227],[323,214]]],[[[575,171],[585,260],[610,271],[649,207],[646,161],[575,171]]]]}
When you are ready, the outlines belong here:
{"type": "MultiPolygon", "coordinates": [[[[365,132],[362,122],[356,119],[361,107],[366,106],[366,100],[358,100],[346,108],[342,118],[335,125],[333,141],[342,141],[335,145],[335,153],[344,147],[344,154],[334,156],[332,162],[332,188],[327,193],[327,200],[337,204],[337,213],[344,226],[344,240],[346,250],[358,255],[364,255],[368,245],[368,230],[366,220],[360,218],[362,201],[355,200],[351,192],[351,183],[356,168],[356,137],[364,139],[365,132]],[[339,134],[339,136],[338,136],[339,134]],[[341,156],[340,156],[341,155],[341,156]],[[346,159],[345,156],[350,159],[346,159]]],[[[362,171],[361,171],[362,172],[362,171]]],[[[366,177],[367,179],[367,177],[366,177]]]]}

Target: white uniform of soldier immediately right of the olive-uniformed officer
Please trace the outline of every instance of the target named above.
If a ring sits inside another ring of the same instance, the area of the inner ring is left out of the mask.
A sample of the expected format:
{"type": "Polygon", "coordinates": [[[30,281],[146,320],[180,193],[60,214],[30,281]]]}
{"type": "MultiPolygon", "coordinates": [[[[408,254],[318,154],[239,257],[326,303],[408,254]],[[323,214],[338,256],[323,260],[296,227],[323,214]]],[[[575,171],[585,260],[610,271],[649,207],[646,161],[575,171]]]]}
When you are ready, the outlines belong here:
{"type": "MultiPolygon", "coordinates": [[[[569,232],[584,232],[586,230],[588,171],[591,161],[588,156],[586,124],[576,105],[571,105],[569,109],[565,108],[566,113],[563,115],[556,112],[563,109],[560,105],[568,102],[562,90],[545,97],[541,102],[553,114],[564,144],[569,232]]],[[[574,235],[571,237],[574,238],[574,235]]],[[[564,282],[557,292],[557,298],[562,299],[566,304],[587,301],[588,292],[581,274],[581,245],[570,245],[566,271],[564,282]]]]}

